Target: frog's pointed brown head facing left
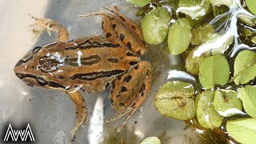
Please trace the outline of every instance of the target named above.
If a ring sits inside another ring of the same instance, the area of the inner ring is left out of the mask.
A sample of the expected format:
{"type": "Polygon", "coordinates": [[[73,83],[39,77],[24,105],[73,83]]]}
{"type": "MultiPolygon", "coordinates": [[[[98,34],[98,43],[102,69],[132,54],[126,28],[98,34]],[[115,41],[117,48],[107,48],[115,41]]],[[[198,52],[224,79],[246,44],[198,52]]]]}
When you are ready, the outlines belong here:
{"type": "Polygon", "coordinates": [[[14,73],[30,86],[52,88],[52,72],[58,69],[60,62],[54,54],[45,53],[41,46],[30,50],[14,66],[14,73]]]}

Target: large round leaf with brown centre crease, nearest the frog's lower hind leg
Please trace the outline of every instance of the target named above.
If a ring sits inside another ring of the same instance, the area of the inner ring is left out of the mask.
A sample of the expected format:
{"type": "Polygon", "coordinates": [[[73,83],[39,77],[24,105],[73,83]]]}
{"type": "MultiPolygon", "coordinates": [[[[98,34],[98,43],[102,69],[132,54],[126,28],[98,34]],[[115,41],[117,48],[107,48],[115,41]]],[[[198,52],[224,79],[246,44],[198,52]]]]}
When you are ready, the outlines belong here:
{"type": "Polygon", "coordinates": [[[182,81],[170,81],[155,95],[154,106],[166,117],[178,120],[194,118],[194,87],[182,81]]]}

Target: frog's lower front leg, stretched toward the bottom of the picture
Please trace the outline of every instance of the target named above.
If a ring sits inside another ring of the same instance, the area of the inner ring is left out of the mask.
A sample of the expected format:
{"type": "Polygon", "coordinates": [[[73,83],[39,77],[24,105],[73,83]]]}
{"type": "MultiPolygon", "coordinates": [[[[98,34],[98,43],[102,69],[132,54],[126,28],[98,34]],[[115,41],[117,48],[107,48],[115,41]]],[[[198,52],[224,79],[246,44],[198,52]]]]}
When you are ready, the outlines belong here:
{"type": "Polygon", "coordinates": [[[77,118],[77,123],[74,126],[73,130],[71,130],[71,138],[72,141],[74,141],[74,134],[78,130],[78,128],[82,125],[83,122],[86,121],[86,115],[87,115],[87,110],[86,110],[86,102],[82,98],[82,95],[78,90],[76,91],[66,91],[66,94],[70,96],[70,99],[74,102],[76,106],[76,118],[77,118]]]}

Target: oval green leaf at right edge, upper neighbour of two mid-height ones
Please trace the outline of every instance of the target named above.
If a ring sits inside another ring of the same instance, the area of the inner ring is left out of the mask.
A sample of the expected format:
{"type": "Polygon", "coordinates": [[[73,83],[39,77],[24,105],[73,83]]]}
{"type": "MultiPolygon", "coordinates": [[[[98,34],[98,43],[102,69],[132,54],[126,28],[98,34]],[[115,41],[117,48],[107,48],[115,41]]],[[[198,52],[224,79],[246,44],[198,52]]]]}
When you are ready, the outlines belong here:
{"type": "Polygon", "coordinates": [[[245,84],[256,77],[256,53],[242,50],[234,60],[234,83],[245,84]]]}

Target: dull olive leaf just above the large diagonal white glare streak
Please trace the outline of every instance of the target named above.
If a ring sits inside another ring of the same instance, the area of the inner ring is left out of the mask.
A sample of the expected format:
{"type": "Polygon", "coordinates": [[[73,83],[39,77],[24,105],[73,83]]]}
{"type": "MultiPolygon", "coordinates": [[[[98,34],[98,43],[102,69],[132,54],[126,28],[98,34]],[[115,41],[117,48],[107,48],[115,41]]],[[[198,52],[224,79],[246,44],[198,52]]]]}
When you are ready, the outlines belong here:
{"type": "Polygon", "coordinates": [[[203,42],[208,41],[212,34],[214,34],[214,27],[205,23],[192,30],[191,43],[194,45],[200,45],[203,42]]]}

